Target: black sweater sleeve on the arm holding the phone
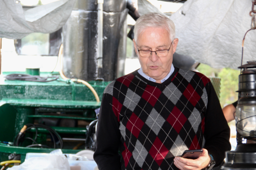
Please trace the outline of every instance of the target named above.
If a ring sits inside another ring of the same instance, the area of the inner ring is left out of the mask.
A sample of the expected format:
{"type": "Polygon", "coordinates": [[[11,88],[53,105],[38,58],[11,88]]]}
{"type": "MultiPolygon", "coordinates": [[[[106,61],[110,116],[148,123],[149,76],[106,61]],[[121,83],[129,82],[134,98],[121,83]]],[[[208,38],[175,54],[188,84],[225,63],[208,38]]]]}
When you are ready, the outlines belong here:
{"type": "Polygon", "coordinates": [[[230,129],[222,112],[220,101],[209,82],[206,88],[208,103],[205,114],[205,149],[212,154],[216,166],[220,166],[225,158],[225,152],[231,149],[229,143],[230,129]]]}

